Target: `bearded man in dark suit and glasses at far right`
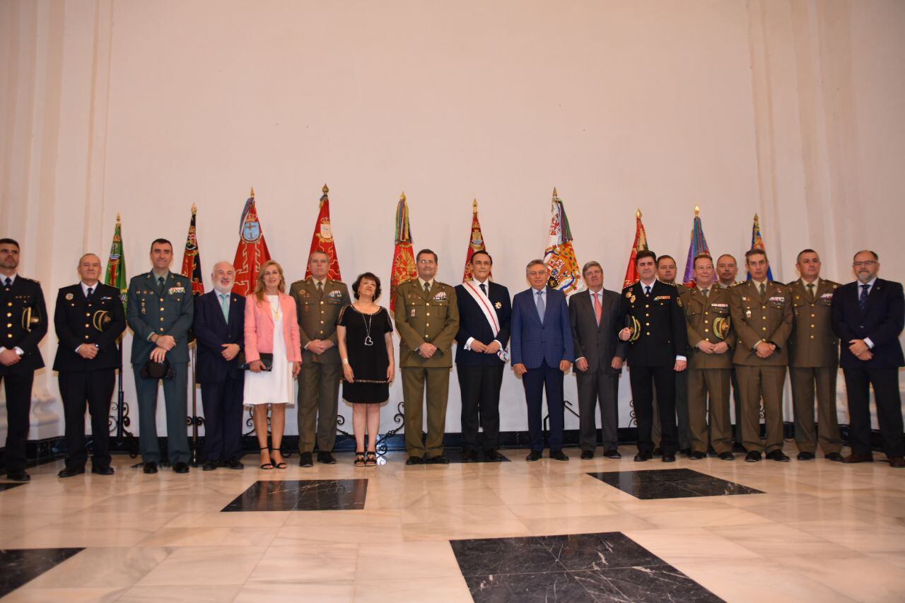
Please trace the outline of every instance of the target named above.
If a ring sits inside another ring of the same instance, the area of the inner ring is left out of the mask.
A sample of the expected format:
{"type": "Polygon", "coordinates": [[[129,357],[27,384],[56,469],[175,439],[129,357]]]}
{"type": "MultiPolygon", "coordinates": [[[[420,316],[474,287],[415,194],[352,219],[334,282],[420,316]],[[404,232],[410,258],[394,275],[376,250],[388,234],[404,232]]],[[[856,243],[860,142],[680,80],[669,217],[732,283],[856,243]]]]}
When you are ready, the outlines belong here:
{"type": "Polygon", "coordinates": [[[905,366],[899,335],[905,325],[900,282],[877,278],[880,258],[864,250],[852,263],[858,280],[833,292],[833,330],[842,340],[840,364],[849,403],[852,454],[844,463],[871,463],[870,391],[877,405],[883,452],[890,466],[905,468],[899,367],[905,366]]]}

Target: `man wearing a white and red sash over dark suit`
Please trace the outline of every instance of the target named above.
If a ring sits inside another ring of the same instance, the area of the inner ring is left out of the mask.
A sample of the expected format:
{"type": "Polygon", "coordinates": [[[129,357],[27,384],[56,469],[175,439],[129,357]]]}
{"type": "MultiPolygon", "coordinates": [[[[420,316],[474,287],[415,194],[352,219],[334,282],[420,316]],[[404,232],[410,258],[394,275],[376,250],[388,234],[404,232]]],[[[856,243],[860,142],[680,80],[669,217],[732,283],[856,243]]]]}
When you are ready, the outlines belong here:
{"type": "Polygon", "coordinates": [[[472,280],[457,285],[459,303],[456,372],[462,391],[462,451],[466,462],[478,460],[479,449],[490,461],[500,460],[500,386],[509,354],[512,304],[509,290],[491,282],[491,254],[472,255],[472,280]],[[483,430],[478,443],[478,427],[483,430]]]}

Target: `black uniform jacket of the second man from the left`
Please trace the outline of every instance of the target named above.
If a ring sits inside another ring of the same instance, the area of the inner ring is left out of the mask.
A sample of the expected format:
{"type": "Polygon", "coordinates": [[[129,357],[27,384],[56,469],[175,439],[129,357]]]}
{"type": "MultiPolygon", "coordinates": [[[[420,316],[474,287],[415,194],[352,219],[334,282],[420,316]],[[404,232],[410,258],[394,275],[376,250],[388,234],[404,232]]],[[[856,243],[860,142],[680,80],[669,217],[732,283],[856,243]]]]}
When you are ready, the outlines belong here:
{"type": "Polygon", "coordinates": [[[119,369],[122,354],[119,336],[126,330],[126,312],[122,309],[121,292],[116,287],[99,282],[85,297],[81,282],[63,287],[57,293],[53,311],[53,328],[57,332],[56,358],[53,370],[119,369]],[[98,355],[83,359],[75,351],[82,343],[98,346],[98,355]]]}

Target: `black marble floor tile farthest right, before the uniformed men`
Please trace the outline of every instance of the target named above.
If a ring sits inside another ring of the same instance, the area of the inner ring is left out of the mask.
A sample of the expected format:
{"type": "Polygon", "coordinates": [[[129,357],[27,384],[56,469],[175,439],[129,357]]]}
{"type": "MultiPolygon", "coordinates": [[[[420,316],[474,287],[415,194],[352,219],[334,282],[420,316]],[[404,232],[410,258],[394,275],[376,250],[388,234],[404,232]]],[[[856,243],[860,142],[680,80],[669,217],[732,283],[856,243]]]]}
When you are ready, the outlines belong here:
{"type": "Polygon", "coordinates": [[[641,499],[763,494],[762,491],[746,485],[728,482],[691,469],[611,471],[588,475],[641,499]]]}

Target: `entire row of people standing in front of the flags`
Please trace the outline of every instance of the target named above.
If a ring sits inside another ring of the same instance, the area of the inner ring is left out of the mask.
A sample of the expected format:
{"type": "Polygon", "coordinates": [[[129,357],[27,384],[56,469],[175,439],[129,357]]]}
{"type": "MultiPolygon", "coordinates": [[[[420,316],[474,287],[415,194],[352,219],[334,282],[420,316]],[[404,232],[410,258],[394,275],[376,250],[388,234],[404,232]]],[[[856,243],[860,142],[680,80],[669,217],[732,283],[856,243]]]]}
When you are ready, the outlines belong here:
{"type": "MultiPolygon", "coordinates": [[[[38,343],[48,316],[38,282],[16,272],[19,245],[0,239],[0,304],[6,312],[0,341],[0,378],[6,390],[8,479],[28,481],[25,442],[33,375],[43,367],[38,343]]],[[[567,299],[548,286],[542,260],[526,267],[529,288],[510,299],[491,281],[491,254],[472,255],[472,278],[454,287],[435,279],[438,257],[430,249],[415,257],[417,278],[395,292],[395,316],[378,304],[381,282],[362,273],[352,284],[329,279],[329,257],[310,254],[310,277],[286,280],[279,263],[261,267],[254,292],[233,293],[232,263],[214,265],[214,291],[194,297],[192,283],[170,272],[173,245],[151,244],[150,272],[129,282],[126,308],[119,290],[100,282],[100,258],[85,254],[81,281],[63,287],[53,315],[59,339],[53,369],[59,371],[67,456],[60,477],[85,472],[85,407],[91,416],[91,472],[113,474],[108,416],[119,336],[134,337],[131,363],[139,412],[139,446],[146,474],[157,473],[157,391],[167,406],[167,453],[173,471],[189,471],[186,390],[189,341],[196,340],[195,376],[205,412],[205,471],[242,469],[243,405],[253,407],[261,468],[287,467],[281,455],[285,408],[296,402],[300,466],[335,464],[338,398],[353,408],[354,464],[376,464],[380,404],[395,378],[393,330],[398,331],[399,369],[405,402],[406,464],[448,464],[443,455],[449,378],[454,361],[462,393],[464,460],[500,459],[500,386],[510,362],[521,379],[528,410],[527,461],[545,447],[546,393],[549,457],[563,452],[563,383],[575,368],[581,458],[598,445],[620,458],[617,397],[629,368],[637,421],[636,462],[657,449],[663,462],[677,453],[702,459],[710,449],[734,460],[729,414],[735,392],[735,444],[745,460],[787,462],[783,453],[782,397],[786,368],[795,411],[798,460],[814,459],[817,445],[831,461],[873,460],[869,388],[876,400],[882,447],[892,467],[905,467],[899,367],[905,366],[899,335],[905,298],[898,282],[878,278],[879,257],[853,258],[856,281],[846,285],[820,277],[820,257],[805,249],[796,258],[800,278],[787,284],[769,278],[767,254],[746,254],[747,282],[736,282],[731,255],[694,258],[694,286],[674,282],[671,256],[642,251],[640,277],[620,293],[604,288],[600,263],[583,267],[586,291],[567,299]],[[352,298],[354,297],[354,301],[352,298]],[[840,351],[841,350],[841,351],[840,351]],[[840,362],[841,360],[841,362],[840,362]],[[843,457],[836,419],[836,376],[842,366],[848,393],[852,452],[843,457]],[[766,436],[761,435],[761,401],[766,436]],[[270,414],[268,416],[268,407],[270,414]],[[426,407],[426,434],[423,435],[426,407]],[[814,420],[816,409],[817,420],[814,420]],[[270,437],[269,437],[270,436],[270,437]]]]}

